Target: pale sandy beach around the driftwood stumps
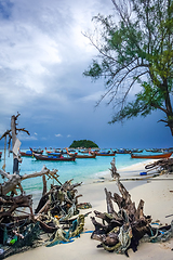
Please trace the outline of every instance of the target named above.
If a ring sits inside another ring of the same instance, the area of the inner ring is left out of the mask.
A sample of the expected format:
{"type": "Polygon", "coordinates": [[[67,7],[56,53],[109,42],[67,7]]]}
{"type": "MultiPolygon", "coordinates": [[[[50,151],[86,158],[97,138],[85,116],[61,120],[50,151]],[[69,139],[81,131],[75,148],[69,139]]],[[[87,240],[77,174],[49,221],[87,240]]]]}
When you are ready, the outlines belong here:
{"type": "MultiPolygon", "coordinates": [[[[134,166],[121,169],[123,171],[144,171],[145,162],[136,164],[134,166]]],[[[120,172],[120,174],[121,174],[120,172]]],[[[173,214],[173,174],[162,174],[155,179],[144,179],[137,181],[122,181],[125,188],[130,192],[131,198],[138,205],[139,199],[145,202],[144,213],[150,214],[152,221],[160,221],[162,224],[170,224],[173,217],[165,218],[169,214],[173,214]]],[[[96,181],[92,184],[85,184],[78,187],[78,193],[82,194],[79,198],[79,203],[91,203],[92,208],[80,210],[81,213],[92,211],[89,217],[85,218],[84,230],[79,238],[75,238],[72,243],[55,245],[53,247],[41,246],[35,249],[30,249],[25,252],[13,255],[9,257],[9,260],[50,260],[50,259],[71,259],[71,260],[104,260],[104,259],[125,259],[127,256],[118,255],[116,252],[108,252],[103,248],[96,248],[99,242],[91,239],[91,232],[94,231],[94,226],[90,217],[94,216],[94,210],[106,212],[106,199],[104,188],[107,188],[111,193],[117,193],[118,187],[116,181],[111,178],[103,178],[101,181],[96,181]]],[[[116,205],[115,205],[116,210],[116,205]]],[[[134,260],[172,260],[173,259],[173,238],[165,243],[141,243],[137,251],[133,252],[129,250],[130,259],[134,260]]]]}

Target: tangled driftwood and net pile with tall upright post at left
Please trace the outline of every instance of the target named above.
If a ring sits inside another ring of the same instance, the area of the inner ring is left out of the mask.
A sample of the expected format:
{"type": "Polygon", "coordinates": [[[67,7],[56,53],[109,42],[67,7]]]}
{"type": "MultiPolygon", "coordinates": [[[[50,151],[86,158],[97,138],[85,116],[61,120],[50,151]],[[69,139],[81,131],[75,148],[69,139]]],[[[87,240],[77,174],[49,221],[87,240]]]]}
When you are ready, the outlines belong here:
{"type": "Polygon", "coordinates": [[[38,243],[40,232],[52,233],[48,246],[69,242],[72,236],[79,236],[84,226],[84,218],[90,213],[79,214],[79,208],[91,207],[88,204],[78,204],[78,198],[82,195],[77,195],[77,187],[81,183],[72,184],[72,180],[69,180],[62,184],[56,169],[50,170],[43,166],[39,172],[19,174],[18,148],[21,142],[16,135],[18,131],[28,134],[29,132],[25,128],[16,128],[18,116],[19,114],[12,116],[11,129],[0,138],[0,140],[5,139],[5,152],[9,136],[9,150],[12,141],[13,152],[13,173],[5,172],[5,158],[2,170],[0,170],[3,178],[3,183],[0,184],[0,259],[40,245],[38,243]],[[42,177],[43,192],[38,207],[34,211],[32,196],[25,194],[22,181],[35,177],[42,177]],[[46,179],[55,180],[57,185],[51,185],[48,191],[46,179]],[[17,194],[17,188],[19,188],[21,195],[17,194]],[[76,216],[75,219],[71,219],[74,216],[76,216]],[[68,231],[65,231],[67,229],[68,231]]]}

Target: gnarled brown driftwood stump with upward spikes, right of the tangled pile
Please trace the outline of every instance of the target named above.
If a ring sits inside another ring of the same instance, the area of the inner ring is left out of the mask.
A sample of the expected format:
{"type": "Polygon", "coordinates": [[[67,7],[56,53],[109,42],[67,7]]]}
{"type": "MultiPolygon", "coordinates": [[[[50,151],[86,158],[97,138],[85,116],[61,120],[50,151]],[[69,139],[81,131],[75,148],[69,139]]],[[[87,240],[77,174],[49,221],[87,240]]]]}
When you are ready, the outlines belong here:
{"type": "MultiPolygon", "coordinates": [[[[111,172],[115,172],[115,160],[111,161],[111,172]]],[[[120,195],[114,195],[105,188],[107,212],[102,213],[94,211],[95,218],[102,219],[103,223],[96,221],[94,217],[91,221],[95,227],[91,238],[99,240],[98,248],[118,253],[128,255],[130,248],[135,252],[139,240],[147,235],[149,239],[161,236],[159,229],[154,229],[150,225],[151,217],[144,213],[144,200],[141,199],[137,208],[132,202],[130,193],[119,180],[119,174],[114,174],[117,179],[117,185],[120,195]],[[114,203],[118,206],[118,211],[114,209],[114,203]]],[[[169,225],[169,235],[173,235],[172,227],[169,225]]]]}

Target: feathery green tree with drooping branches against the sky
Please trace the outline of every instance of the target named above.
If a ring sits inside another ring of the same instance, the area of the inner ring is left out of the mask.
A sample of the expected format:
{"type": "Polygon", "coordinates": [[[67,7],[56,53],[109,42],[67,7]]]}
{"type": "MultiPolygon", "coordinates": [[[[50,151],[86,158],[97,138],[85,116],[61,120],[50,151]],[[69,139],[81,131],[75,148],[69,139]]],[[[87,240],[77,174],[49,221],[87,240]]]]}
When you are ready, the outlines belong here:
{"type": "Polygon", "coordinates": [[[105,80],[97,105],[108,98],[111,123],[159,109],[173,135],[173,1],[111,1],[119,20],[98,14],[95,35],[85,34],[98,55],[84,76],[105,80]]]}

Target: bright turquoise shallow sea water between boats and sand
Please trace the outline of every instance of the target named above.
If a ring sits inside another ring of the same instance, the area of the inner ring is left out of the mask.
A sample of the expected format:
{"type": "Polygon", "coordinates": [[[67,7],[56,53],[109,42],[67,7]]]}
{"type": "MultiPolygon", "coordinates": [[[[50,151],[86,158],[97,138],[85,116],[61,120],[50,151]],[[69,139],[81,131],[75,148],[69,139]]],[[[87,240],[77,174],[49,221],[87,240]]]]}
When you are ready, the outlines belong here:
{"type": "MultiPolygon", "coordinates": [[[[50,170],[57,169],[57,174],[59,176],[58,180],[64,183],[67,180],[74,179],[72,183],[82,182],[82,183],[91,183],[93,180],[98,180],[104,177],[106,173],[110,174],[109,168],[110,162],[114,157],[111,156],[97,156],[92,159],[80,159],[77,158],[76,161],[41,161],[36,160],[32,157],[22,157],[23,161],[19,165],[19,174],[24,173],[32,173],[36,171],[41,171],[43,165],[46,166],[50,170]]],[[[141,161],[144,159],[132,159],[130,154],[117,154],[116,158],[116,167],[117,169],[121,169],[141,161]]],[[[4,154],[2,154],[2,158],[0,160],[0,169],[4,164],[4,154]]],[[[13,155],[6,153],[5,156],[5,171],[12,173],[13,171],[13,155]]],[[[2,179],[0,177],[0,181],[2,179]]],[[[49,185],[53,183],[52,180],[48,182],[49,185]]],[[[42,178],[31,178],[28,180],[24,180],[22,185],[26,193],[37,193],[42,191],[42,178]]]]}

